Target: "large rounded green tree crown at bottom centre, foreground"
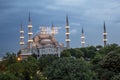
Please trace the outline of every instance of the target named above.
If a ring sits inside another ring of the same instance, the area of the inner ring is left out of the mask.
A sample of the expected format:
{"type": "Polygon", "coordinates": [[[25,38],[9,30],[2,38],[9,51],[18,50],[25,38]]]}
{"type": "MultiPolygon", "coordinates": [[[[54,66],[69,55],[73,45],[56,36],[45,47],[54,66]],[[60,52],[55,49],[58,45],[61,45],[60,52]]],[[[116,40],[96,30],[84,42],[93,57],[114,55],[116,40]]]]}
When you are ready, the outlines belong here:
{"type": "Polygon", "coordinates": [[[81,59],[60,58],[44,71],[48,80],[96,80],[89,63],[81,59]]]}

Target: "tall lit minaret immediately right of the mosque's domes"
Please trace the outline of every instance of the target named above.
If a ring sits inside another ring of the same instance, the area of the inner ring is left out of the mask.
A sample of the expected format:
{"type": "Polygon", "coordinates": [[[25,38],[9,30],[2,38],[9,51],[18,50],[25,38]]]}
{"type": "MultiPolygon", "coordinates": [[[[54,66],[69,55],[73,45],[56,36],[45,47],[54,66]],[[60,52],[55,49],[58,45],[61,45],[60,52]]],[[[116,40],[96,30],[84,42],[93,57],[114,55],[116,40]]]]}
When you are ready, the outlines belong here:
{"type": "Polygon", "coordinates": [[[65,26],[65,28],[66,28],[66,48],[69,49],[70,48],[70,37],[69,37],[69,35],[70,35],[70,32],[69,32],[70,26],[69,26],[69,22],[68,22],[68,16],[66,16],[66,26],[65,26]]]}

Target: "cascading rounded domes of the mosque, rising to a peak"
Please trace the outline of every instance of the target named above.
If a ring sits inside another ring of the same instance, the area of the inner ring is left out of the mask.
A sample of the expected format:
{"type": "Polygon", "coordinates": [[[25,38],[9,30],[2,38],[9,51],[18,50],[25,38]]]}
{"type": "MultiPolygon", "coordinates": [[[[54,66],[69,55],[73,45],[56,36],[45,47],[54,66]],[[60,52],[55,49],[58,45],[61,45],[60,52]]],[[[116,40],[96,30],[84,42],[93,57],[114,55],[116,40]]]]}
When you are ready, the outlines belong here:
{"type": "Polygon", "coordinates": [[[47,32],[45,27],[42,27],[40,32],[33,37],[33,47],[43,48],[43,47],[63,47],[61,43],[58,43],[55,36],[47,32]]]}

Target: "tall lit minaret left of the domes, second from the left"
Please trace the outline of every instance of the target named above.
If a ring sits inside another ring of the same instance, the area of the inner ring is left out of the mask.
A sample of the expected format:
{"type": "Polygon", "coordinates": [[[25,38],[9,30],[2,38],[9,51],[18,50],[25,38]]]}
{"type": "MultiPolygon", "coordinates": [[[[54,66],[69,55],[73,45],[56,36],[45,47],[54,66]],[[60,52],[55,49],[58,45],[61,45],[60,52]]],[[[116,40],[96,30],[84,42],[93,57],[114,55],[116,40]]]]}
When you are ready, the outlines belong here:
{"type": "Polygon", "coordinates": [[[29,18],[28,18],[29,24],[28,24],[28,48],[32,49],[32,43],[33,43],[33,39],[32,39],[32,23],[31,23],[31,16],[29,13],[29,18]]]}

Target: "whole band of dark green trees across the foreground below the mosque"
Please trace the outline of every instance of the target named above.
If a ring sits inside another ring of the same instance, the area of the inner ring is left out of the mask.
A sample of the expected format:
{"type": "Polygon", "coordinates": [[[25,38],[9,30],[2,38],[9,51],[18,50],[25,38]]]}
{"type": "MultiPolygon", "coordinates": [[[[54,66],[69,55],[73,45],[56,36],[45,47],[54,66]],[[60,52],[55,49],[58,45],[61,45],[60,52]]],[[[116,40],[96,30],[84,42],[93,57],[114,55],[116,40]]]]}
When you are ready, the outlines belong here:
{"type": "Polygon", "coordinates": [[[33,54],[22,61],[8,52],[0,61],[0,80],[120,80],[120,46],[71,48],[60,58],[33,54]]]}

